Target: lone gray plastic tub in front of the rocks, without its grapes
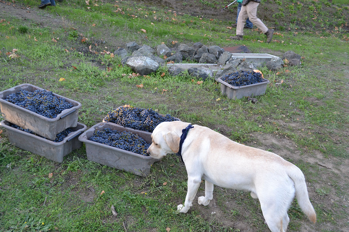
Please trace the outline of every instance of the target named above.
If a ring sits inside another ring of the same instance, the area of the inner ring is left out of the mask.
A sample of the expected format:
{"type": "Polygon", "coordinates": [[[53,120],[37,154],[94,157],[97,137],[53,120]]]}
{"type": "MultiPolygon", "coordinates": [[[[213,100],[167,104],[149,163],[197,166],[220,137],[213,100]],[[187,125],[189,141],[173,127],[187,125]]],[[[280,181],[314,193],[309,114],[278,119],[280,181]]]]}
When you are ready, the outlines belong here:
{"type": "Polygon", "coordinates": [[[243,97],[252,97],[265,94],[269,80],[264,79],[263,82],[245,85],[245,86],[232,86],[229,83],[222,81],[222,78],[217,79],[221,83],[221,92],[223,95],[227,95],[230,99],[240,99],[243,97]]]}

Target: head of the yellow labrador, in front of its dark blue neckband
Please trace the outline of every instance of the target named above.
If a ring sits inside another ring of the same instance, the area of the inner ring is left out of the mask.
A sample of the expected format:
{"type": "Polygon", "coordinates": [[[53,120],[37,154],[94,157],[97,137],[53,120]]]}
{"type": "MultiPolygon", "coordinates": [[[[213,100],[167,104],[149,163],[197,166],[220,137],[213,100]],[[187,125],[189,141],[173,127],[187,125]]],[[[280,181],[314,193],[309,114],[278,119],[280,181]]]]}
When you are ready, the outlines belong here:
{"type": "Polygon", "coordinates": [[[173,121],[157,125],[151,134],[153,143],[149,146],[147,154],[153,158],[161,159],[166,154],[177,153],[181,130],[187,124],[182,121],[173,121]]]}

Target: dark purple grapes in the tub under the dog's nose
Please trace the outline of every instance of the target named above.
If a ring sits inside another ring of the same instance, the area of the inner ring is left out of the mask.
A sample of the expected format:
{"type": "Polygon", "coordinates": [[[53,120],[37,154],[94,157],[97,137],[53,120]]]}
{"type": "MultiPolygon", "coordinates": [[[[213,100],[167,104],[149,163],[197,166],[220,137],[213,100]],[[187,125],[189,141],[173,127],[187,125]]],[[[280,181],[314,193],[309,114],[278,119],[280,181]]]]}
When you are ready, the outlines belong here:
{"type": "Polygon", "coordinates": [[[120,132],[110,128],[104,128],[101,131],[96,130],[89,140],[146,156],[148,156],[147,149],[150,146],[137,134],[126,131],[120,132]]]}

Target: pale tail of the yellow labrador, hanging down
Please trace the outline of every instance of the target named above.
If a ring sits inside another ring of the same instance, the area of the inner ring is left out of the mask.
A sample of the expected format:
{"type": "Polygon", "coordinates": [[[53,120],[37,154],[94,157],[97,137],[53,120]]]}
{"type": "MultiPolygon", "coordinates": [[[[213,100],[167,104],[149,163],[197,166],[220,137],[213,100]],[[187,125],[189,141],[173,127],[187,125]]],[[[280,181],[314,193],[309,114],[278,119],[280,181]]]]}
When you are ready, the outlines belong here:
{"type": "Polygon", "coordinates": [[[298,201],[298,205],[300,209],[302,209],[303,213],[309,218],[309,220],[315,223],[316,214],[309,200],[304,175],[297,166],[292,166],[292,168],[288,169],[287,174],[295,183],[296,199],[298,201]]]}

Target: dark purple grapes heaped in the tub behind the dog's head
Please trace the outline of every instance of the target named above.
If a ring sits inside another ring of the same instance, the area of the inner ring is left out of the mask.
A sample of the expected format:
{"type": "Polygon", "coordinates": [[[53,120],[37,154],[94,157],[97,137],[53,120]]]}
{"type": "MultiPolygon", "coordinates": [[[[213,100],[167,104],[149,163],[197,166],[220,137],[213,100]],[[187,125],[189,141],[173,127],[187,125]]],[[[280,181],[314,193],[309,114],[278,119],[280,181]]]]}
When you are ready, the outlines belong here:
{"type": "Polygon", "coordinates": [[[138,107],[119,107],[108,112],[104,121],[113,122],[118,125],[153,132],[161,122],[178,121],[170,114],[161,115],[152,109],[141,109],[138,107]]]}

